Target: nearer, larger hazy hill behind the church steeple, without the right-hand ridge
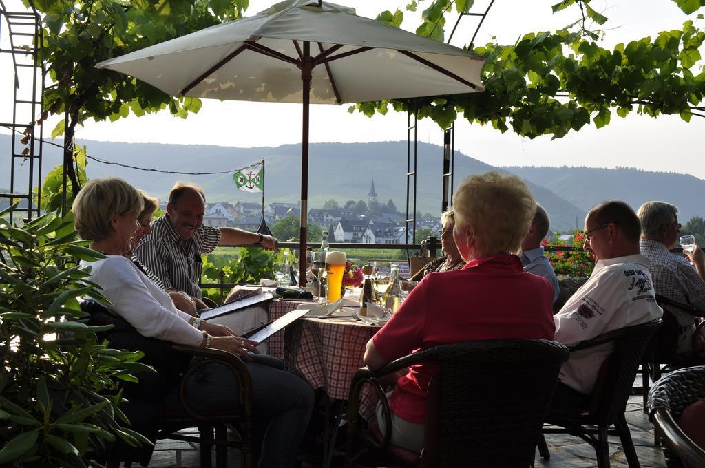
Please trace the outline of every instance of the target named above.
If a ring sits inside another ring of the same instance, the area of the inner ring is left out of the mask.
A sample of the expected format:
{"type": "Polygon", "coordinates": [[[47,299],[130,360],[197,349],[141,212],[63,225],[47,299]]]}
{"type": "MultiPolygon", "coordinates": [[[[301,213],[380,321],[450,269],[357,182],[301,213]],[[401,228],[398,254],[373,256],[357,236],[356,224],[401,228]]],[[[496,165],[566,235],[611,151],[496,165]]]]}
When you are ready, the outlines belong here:
{"type": "MultiPolygon", "coordinates": [[[[86,144],[88,154],[128,166],[159,168],[175,172],[221,172],[266,160],[266,202],[295,202],[300,196],[300,145],[280,147],[233,148],[209,145],[142,144],[121,142],[79,142],[86,144]]],[[[0,149],[9,147],[9,138],[0,135],[0,149]]],[[[441,209],[441,147],[418,144],[417,209],[435,216],[441,209]]],[[[367,200],[372,178],[380,202],[393,199],[400,211],[405,211],[406,142],[376,143],[317,143],[309,147],[309,208],[321,207],[326,199],[345,202],[348,199],[367,200]]],[[[60,149],[44,146],[44,173],[59,164],[60,149]]],[[[455,185],[467,175],[494,169],[482,161],[460,152],[455,156],[455,185]]],[[[90,177],[118,176],[150,194],[164,198],[177,180],[192,180],[202,185],[209,201],[259,201],[261,195],[239,192],[231,173],[186,176],[138,171],[89,161],[90,177]]],[[[0,180],[0,187],[6,186],[0,180]]],[[[566,230],[582,223],[584,210],[557,197],[551,190],[529,183],[539,203],[551,214],[553,228],[566,230]]]]}

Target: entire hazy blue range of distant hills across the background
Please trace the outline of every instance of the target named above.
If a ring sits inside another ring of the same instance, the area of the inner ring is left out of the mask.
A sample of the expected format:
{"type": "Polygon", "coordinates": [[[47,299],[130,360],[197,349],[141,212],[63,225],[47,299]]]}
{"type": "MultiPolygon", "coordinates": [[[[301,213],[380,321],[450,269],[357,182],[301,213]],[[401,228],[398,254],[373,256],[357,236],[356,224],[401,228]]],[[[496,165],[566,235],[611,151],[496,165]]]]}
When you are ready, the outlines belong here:
{"type": "MultiPolygon", "coordinates": [[[[61,144],[61,141],[57,141],[61,144]]],[[[204,187],[209,202],[257,202],[260,194],[235,189],[232,171],[266,160],[266,202],[295,202],[300,196],[300,144],[280,147],[235,148],[204,144],[157,144],[80,141],[87,154],[106,161],[140,168],[175,172],[217,173],[204,176],[139,171],[89,160],[90,177],[118,176],[161,199],[177,180],[191,180],[204,187]]],[[[443,149],[419,142],[417,160],[417,210],[440,214],[443,149]]],[[[0,135],[0,154],[7,154],[10,137],[0,135]]],[[[406,142],[314,143],[309,147],[309,208],[322,207],[327,199],[341,204],[365,200],[372,178],[379,202],[393,199],[405,211],[406,142]]],[[[3,159],[7,161],[7,159],[3,159]]],[[[43,173],[60,164],[61,149],[44,145],[43,173]]],[[[9,164],[9,163],[3,163],[9,164]]],[[[636,169],[495,168],[455,152],[455,186],[465,176],[499,170],[524,178],[537,201],[551,215],[551,227],[568,230],[582,226],[586,211],[606,198],[625,199],[633,207],[649,199],[677,204],[681,218],[702,214],[698,202],[705,198],[705,180],[670,173],[636,169]],[[661,195],[663,194],[663,195],[661,195]]],[[[0,176],[0,187],[9,187],[9,171],[0,176]]]]}

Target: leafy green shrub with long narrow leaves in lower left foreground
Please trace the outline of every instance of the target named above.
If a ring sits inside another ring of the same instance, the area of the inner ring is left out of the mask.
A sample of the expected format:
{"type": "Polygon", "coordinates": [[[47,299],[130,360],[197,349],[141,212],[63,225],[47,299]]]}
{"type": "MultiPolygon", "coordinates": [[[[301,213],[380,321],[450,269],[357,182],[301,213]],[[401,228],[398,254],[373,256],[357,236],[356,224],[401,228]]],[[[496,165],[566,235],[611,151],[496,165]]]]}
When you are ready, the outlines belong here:
{"type": "Polygon", "coordinates": [[[13,227],[10,209],[0,212],[0,465],[85,467],[116,437],[149,443],[121,426],[116,382],[151,368],[99,343],[111,326],[87,325],[78,304],[102,295],[75,263],[102,254],[72,221],[46,214],[13,227]]]}

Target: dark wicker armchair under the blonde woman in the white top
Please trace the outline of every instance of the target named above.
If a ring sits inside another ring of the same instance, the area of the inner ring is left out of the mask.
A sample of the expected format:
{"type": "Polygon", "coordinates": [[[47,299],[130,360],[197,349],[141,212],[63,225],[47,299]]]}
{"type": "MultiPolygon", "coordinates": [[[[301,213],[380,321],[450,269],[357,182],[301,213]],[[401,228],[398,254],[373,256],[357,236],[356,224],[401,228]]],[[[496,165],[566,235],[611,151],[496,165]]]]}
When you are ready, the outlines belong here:
{"type": "MultiPolygon", "coordinates": [[[[142,337],[130,324],[93,300],[83,301],[81,309],[91,315],[91,324],[115,326],[113,330],[99,333],[99,339],[108,340],[109,345],[117,349],[144,352],[145,356],[140,362],[157,370],[157,373],[137,374],[140,381],[136,384],[125,384],[124,395],[128,397],[128,402],[121,406],[121,410],[130,419],[134,430],[152,441],[168,438],[200,443],[202,467],[211,466],[212,447],[216,448],[216,467],[227,467],[228,447],[240,449],[243,468],[252,467],[252,382],[240,358],[221,350],[173,345],[142,337]],[[194,357],[199,359],[192,360],[194,357]],[[214,362],[227,367],[238,381],[240,410],[237,412],[199,414],[185,398],[187,378],[200,367],[214,362]],[[185,413],[164,412],[161,408],[164,392],[177,385],[180,386],[180,400],[185,413]],[[179,433],[181,429],[190,427],[197,427],[199,435],[179,433]],[[238,433],[238,440],[228,441],[226,427],[238,433]]],[[[100,461],[106,462],[108,467],[117,467],[121,462],[125,462],[126,467],[130,467],[132,462],[146,466],[151,456],[151,448],[135,449],[118,441],[109,446],[100,461]]]]}

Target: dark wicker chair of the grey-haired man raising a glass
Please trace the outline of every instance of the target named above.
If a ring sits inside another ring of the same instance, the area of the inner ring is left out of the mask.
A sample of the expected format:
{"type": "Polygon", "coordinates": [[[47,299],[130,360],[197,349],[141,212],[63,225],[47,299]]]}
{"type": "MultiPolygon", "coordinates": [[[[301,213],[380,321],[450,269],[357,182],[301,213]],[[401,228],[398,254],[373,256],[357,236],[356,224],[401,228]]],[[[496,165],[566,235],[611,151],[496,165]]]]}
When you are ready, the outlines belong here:
{"type": "MultiPolygon", "coordinates": [[[[656,295],[656,302],[663,309],[663,326],[651,338],[651,343],[646,347],[644,360],[642,362],[642,391],[644,395],[644,411],[646,411],[646,398],[649,395],[649,377],[656,382],[663,371],[670,371],[684,366],[695,366],[705,364],[705,359],[697,356],[697,352],[686,352],[678,354],[678,319],[672,311],[678,310],[687,314],[692,314],[693,320],[696,317],[705,317],[705,312],[695,309],[689,304],[680,304],[667,297],[656,295]]],[[[702,332],[705,321],[702,321],[693,333],[691,342],[692,350],[702,350],[702,332]]]]}

